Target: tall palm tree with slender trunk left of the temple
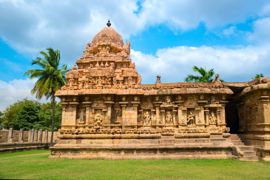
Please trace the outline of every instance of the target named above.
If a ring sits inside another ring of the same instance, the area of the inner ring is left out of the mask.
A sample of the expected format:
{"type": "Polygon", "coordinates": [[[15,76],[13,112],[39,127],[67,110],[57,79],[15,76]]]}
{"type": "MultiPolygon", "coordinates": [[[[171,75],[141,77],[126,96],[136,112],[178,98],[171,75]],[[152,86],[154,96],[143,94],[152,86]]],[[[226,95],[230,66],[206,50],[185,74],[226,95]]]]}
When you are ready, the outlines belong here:
{"type": "Polygon", "coordinates": [[[47,48],[47,52],[41,51],[43,56],[37,57],[32,61],[32,65],[37,65],[39,69],[30,69],[25,74],[30,79],[37,79],[32,94],[38,99],[42,97],[51,100],[51,145],[53,144],[54,119],[55,119],[55,93],[66,83],[65,74],[67,66],[63,65],[60,69],[60,51],[47,48]]]}

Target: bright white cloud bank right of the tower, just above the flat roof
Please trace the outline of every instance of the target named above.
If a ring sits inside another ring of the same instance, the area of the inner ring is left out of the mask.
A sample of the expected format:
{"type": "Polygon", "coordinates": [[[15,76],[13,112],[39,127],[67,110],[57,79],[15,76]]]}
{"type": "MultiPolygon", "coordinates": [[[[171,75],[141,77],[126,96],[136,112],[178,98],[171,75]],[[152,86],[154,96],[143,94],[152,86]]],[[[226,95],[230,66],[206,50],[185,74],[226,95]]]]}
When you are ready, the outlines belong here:
{"type": "Polygon", "coordinates": [[[160,49],[154,56],[132,51],[132,58],[144,83],[183,81],[193,74],[192,66],[214,68],[225,81],[249,81],[257,73],[269,76],[270,46],[260,47],[187,47],[160,49]]]}

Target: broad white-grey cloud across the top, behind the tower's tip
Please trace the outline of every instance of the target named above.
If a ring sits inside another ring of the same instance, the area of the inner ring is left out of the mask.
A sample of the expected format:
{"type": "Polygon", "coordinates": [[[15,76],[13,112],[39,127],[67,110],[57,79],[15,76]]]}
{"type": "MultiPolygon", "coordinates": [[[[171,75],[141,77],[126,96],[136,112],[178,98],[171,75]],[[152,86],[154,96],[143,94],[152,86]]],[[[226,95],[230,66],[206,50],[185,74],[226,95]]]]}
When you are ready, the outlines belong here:
{"type": "Polygon", "coordinates": [[[145,0],[142,10],[135,0],[0,0],[0,38],[33,57],[47,47],[61,50],[70,64],[84,45],[111,19],[125,39],[147,27],[166,23],[189,30],[242,22],[266,11],[266,0],[145,0]]]}

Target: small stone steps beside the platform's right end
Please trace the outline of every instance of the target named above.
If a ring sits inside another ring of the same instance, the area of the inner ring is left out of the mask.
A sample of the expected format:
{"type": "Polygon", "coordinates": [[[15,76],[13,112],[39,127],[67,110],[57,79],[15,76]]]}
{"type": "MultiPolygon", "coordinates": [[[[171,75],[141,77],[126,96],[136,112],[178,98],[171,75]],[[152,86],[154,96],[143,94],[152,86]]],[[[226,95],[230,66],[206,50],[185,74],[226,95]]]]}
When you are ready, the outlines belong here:
{"type": "Polygon", "coordinates": [[[258,161],[254,147],[251,145],[246,145],[238,134],[231,134],[231,142],[237,148],[239,160],[258,161]]]}

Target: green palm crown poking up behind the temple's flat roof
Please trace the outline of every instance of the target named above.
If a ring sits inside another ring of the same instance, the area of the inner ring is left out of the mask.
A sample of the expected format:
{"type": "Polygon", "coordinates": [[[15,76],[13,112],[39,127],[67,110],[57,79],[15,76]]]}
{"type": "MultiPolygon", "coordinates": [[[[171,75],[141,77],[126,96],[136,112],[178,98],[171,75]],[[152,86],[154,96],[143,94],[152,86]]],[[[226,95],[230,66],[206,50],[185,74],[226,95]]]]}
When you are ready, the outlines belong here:
{"type": "Polygon", "coordinates": [[[212,82],[213,76],[215,75],[214,69],[210,69],[209,71],[204,68],[199,68],[197,66],[193,66],[193,71],[199,73],[198,76],[189,74],[185,81],[186,82],[212,82]]]}

